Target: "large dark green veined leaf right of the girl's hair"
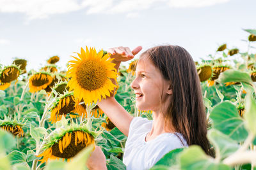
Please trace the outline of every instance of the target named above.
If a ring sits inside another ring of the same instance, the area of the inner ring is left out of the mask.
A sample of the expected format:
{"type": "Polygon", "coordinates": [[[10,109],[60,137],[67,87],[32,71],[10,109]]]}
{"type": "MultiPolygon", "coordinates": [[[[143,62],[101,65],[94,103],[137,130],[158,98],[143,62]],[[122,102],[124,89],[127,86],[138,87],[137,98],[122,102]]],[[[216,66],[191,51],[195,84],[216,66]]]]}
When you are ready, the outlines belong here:
{"type": "Polygon", "coordinates": [[[244,141],[247,138],[248,132],[244,127],[243,118],[239,116],[234,104],[228,101],[217,104],[212,109],[210,118],[215,129],[223,132],[223,134],[226,134],[237,142],[244,141]]]}

